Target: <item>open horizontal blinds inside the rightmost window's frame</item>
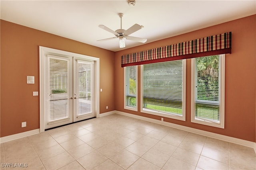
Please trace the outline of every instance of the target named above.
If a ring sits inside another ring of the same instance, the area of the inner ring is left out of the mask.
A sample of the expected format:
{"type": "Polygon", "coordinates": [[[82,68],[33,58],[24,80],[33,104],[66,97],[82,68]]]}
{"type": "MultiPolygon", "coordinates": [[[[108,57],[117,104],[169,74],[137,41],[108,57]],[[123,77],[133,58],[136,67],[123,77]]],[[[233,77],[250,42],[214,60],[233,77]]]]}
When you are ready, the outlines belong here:
{"type": "Polygon", "coordinates": [[[220,56],[196,58],[195,115],[197,118],[220,120],[220,56]]]}

